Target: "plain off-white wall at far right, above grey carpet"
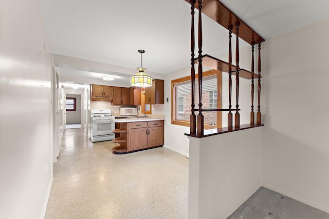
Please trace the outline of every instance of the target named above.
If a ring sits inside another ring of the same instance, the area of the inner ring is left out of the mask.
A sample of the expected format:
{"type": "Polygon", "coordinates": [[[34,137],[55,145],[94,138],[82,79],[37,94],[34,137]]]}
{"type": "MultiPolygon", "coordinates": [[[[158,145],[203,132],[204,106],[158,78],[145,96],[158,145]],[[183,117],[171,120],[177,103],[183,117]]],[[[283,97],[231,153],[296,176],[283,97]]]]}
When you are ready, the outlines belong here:
{"type": "Polygon", "coordinates": [[[264,46],[263,184],[329,212],[329,19],[264,46]]]}

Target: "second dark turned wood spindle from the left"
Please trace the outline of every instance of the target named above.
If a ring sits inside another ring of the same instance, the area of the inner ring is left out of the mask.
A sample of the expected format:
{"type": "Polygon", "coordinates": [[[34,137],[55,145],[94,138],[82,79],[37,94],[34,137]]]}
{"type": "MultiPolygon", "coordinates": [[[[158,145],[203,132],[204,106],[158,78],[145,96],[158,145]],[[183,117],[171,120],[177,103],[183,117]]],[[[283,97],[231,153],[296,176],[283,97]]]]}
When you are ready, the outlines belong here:
{"type": "Polygon", "coordinates": [[[204,115],[202,114],[202,0],[198,1],[198,91],[199,91],[199,114],[197,115],[197,135],[204,135],[204,115]]]}

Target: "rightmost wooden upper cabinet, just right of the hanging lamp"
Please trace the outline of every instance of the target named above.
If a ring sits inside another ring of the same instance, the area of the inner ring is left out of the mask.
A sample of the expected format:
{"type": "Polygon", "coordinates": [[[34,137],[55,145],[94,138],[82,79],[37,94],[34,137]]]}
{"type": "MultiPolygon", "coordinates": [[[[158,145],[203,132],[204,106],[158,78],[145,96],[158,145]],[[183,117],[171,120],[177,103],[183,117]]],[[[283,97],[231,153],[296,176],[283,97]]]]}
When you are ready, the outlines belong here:
{"type": "Polygon", "coordinates": [[[145,88],[145,104],[165,104],[165,83],[160,79],[152,80],[152,87],[145,88]]]}

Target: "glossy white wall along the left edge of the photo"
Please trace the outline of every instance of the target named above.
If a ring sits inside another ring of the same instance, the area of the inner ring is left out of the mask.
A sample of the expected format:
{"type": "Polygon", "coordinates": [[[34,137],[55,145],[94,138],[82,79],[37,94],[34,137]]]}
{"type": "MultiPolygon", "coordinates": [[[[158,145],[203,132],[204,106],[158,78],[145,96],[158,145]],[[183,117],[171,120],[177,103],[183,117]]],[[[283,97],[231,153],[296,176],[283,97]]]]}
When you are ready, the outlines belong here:
{"type": "Polygon", "coordinates": [[[52,182],[52,95],[38,2],[1,1],[0,27],[0,217],[42,218],[52,182]]]}

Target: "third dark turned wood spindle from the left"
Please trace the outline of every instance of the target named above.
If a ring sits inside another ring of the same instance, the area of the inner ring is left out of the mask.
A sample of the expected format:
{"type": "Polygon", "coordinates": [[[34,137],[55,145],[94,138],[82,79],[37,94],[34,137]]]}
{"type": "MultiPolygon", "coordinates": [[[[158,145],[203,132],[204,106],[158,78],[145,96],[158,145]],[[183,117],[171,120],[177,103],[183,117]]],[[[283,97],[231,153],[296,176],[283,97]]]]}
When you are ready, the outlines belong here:
{"type": "Polygon", "coordinates": [[[228,72],[228,101],[229,101],[229,112],[227,114],[227,127],[233,127],[233,114],[231,111],[232,108],[232,25],[229,27],[229,45],[228,45],[228,64],[229,64],[229,72],[228,72]]]}

